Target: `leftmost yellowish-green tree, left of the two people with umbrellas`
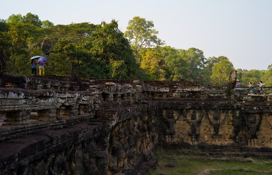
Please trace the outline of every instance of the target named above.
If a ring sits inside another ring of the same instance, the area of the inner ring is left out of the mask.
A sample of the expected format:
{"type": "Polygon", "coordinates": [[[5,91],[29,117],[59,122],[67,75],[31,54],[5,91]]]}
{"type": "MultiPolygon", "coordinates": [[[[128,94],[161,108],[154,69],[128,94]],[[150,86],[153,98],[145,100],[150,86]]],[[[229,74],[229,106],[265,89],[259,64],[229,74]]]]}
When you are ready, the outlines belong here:
{"type": "Polygon", "coordinates": [[[6,72],[30,74],[29,59],[39,50],[37,38],[42,35],[40,28],[22,22],[3,23],[0,28],[0,47],[6,57],[6,72]]]}

